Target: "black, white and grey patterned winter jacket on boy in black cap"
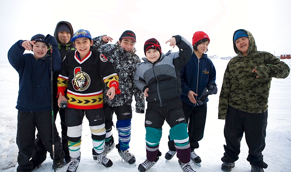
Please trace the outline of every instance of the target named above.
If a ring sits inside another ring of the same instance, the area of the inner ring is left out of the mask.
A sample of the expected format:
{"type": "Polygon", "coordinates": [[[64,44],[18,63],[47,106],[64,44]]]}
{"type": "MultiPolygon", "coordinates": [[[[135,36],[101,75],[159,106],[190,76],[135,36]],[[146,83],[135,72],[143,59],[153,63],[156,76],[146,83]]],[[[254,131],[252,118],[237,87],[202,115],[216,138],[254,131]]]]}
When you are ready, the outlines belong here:
{"type": "MultiPolygon", "coordinates": [[[[94,44],[91,46],[93,51],[99,51],[104,54],[111,62],[113,68],[118,75],[120,94],[115,95],[113,100],[109,100],[104,96],[104,102],[112,107],[131,105],[132,96],[134,95],[136,105],[135,111],[137,113],[144,113],[145,100],[143,92],[134,84],[133,75],[136,67],[141,62],[139,56],[135,54],[136,49],[132,52],[124,51],[118,42],[116,44],[106,44],[102,41],[102,36],[93,38],[94,44]],[[103,45],[103,46],[102,46],[103,45]]],[[[108,88],[103,87],[104,93],[107,93],[108,88]]]]}

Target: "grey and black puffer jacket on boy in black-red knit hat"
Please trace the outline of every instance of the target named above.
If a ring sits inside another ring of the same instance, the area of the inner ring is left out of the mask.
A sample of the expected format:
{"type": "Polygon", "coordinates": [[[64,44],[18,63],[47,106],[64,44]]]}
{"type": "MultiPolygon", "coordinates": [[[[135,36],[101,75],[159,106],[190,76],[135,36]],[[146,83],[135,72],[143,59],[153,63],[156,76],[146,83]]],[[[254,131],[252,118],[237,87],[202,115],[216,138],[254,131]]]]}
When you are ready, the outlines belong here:
{"type": "Polygon", "coordinates": [[[142,58],[134,75],[136,86],[143,92],[148,89],[146,101],[148,105],[163,107],[180,101],[181,95],[181,68],[191,58],[193,47],[182,36],[175,36],[179,52],[161,54],[158,61],[152,63],[142,58]]]}

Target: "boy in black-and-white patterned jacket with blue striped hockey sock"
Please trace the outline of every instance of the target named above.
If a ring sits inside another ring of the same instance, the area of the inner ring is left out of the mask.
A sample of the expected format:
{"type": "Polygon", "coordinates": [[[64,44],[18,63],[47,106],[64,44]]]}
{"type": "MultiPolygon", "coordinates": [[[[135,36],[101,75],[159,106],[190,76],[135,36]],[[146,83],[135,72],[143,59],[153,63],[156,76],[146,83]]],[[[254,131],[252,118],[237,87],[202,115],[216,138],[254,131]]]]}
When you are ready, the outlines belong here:
{"type": "MultiPolygon", "coordinates": [[[[119,88],[121,93],[115,95],[113,100],[104,96],[103,109],[105,113],[105,150],[107,154],[114,148],[114,139],[112,136],[113,113],[117,116],[116,130],[118,131],[118,149],[119,155],[129,164],[135,163],[135,157],[128,152],[132,118],[132,96],[134,95],[137,113],[144,113],[145,100],[143,92],[134,84],[134,73],[137,66],[141,63],[134,48],[136,36],[133,31],[124,31],[116,44],[106,44],[111,37],[99,36],[94,38],[94,44],[91,47],[94,51],[104,54],[112,64],[115,72],[118,74],[119,88]],[[102,46],[104,45],[104,46],[102,46]]],[[[112,41],[111,41],[112,42],[112,41]]],[[[107,90],[103,86],[103,90],[107,90]]]]}

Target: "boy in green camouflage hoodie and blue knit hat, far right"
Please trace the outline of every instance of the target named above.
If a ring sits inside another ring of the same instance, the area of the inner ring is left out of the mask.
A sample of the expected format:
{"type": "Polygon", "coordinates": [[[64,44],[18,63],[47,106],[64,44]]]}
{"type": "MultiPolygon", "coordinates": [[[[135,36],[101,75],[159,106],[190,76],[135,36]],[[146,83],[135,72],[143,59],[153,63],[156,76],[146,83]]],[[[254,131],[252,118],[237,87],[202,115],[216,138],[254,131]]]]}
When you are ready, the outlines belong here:
{"type": "Polygon", "coordinates": [[[259,52],[253,35],[244,29],[233,34],[237,56],[230,59],[219,96],[218,118],[225,119],[225,153],[221,169],[231,171],[238,159],[240,141],[245,133],[249,147],[247,161],[251,171],[263,171],[267,102],[272,77],[286,78],[290,68],[269,52],[259,52]]]}

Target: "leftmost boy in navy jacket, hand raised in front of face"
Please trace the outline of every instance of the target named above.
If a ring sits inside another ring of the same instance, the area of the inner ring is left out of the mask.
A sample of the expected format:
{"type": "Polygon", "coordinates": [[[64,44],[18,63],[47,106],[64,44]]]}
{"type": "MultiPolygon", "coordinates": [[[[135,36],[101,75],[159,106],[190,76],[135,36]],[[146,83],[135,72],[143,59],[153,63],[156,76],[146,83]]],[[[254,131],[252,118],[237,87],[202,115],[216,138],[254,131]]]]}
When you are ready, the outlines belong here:
{"type": "Polygon", "coordinates": [[[52,72],[62,68],[58,45],[53,36],[37,34],[31,40],[19,40],[8,51],[9,63],[19,74],[19,94],[17,99],[17,136],[19,148],[17,172],[32,171],[36,168],[32,157],[33,141],[36,128],[42,138],[43,149],[48,151],[55,167],[63,165],[64,152],[61,148],[61,138],[54,126],[55,147],[52,149],[52,111],[51,111],[51,69],[52,72]],[[52,45],[53,65],[51,56],[47,55],[49,44],[52,45]],[[23,54],[32,50],[34,54],[23,54]]]}

